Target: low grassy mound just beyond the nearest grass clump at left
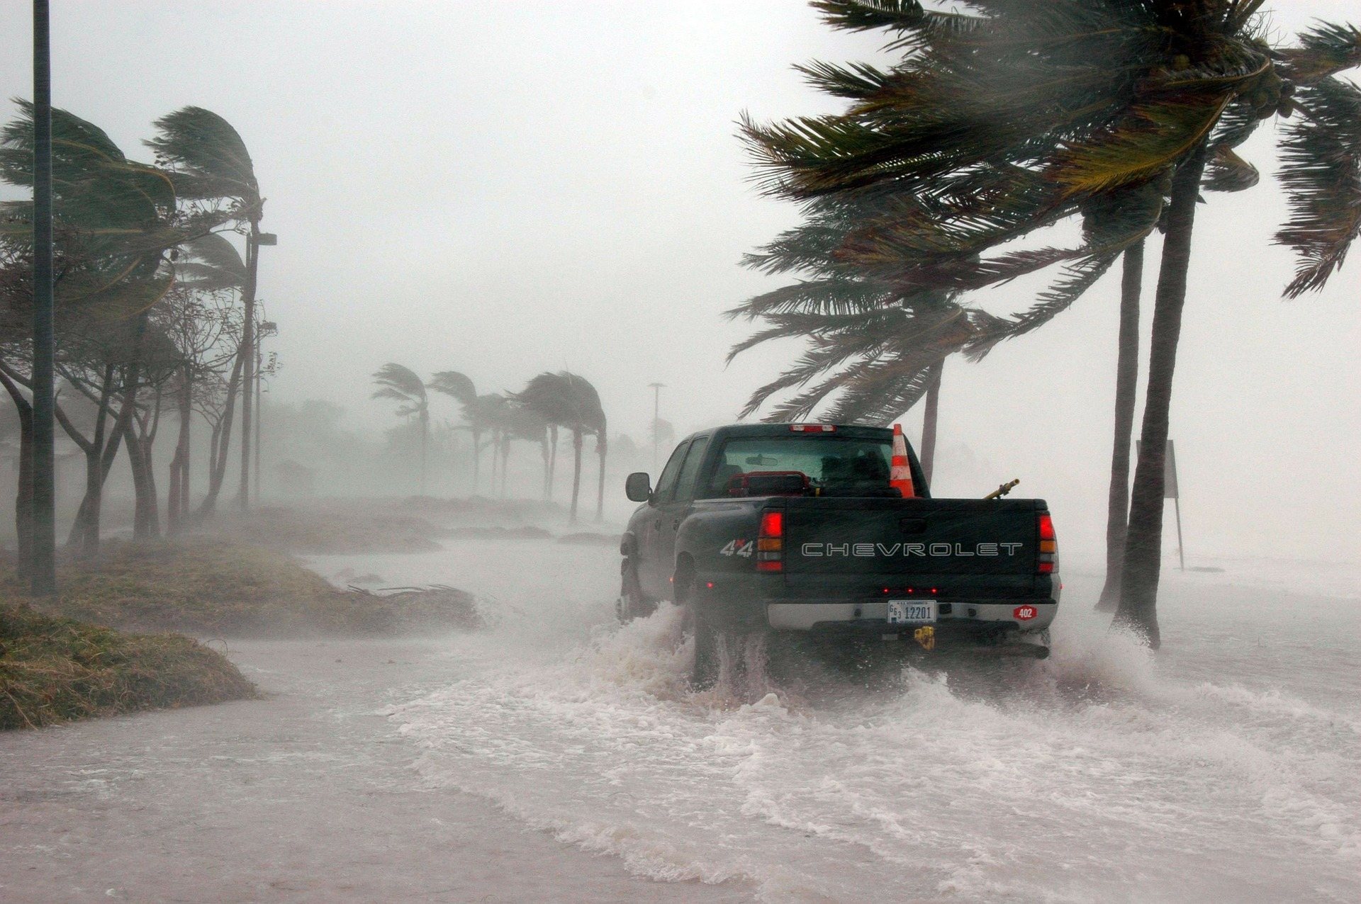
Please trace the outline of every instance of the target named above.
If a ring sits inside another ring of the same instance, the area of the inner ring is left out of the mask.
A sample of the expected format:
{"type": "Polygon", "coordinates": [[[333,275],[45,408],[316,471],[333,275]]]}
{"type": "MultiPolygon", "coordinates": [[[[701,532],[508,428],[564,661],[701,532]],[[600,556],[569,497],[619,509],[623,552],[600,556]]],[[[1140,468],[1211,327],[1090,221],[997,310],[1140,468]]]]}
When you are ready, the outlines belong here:
{"type": "MultiPolygon", "coordinates": [[[[400,594],[338,590],[291,556],[196,537],[106,542],[98,563],[67,563],[45,610],[127,629],[199,636],[393,635],[480,625],[470,594],[452,587],[400,594]]],[[[19,595],[12,571],[0,593],[19,595]]]]}

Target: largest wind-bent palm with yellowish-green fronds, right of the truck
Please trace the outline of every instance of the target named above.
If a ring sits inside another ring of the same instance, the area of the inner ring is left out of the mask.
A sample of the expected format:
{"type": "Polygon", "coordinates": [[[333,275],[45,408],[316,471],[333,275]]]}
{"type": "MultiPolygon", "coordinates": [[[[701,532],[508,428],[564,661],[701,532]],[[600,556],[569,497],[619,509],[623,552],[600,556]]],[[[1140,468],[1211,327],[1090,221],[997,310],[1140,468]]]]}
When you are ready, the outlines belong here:
{"type": "MultiPolygon", "coordinates": [[[[889,71],[808,67],[821,87],[852,99],[849,111],[765,128],[749,122],[746,133],[772,192],[807,200],[875,188],[902,201],[897,222],[847,243],[848,258],[871,271],[887,268],[900,279],[934,271],[968,281],[981,275],[980,250],[1170,174],[1117,612],[1157,646],[1162,458],[1195,203],[1204,177],[1256,179],[1233,148],[1259,120],[1304,113],[1305,125],[1288,131],[1294,219],[1278,241],[1304,257],[1289,292],[1327,279],[1358,226],[1346,203],[1319,201],[1330,189],[1345,201],[1361,194],[1349,181],[1361,151],[1338,132],[1349,131],[1345,110],[1358,91],[1332,77],[1361,63],[1361,33],[1317,26],[1298,48],[1273,48],[1260,37],[1260,0],[976,3],[972,16],[909,0],[815,5],[838,27],[897,31],[905,58],[889,71]],[[1312,139],[1292,143],[1304,135],[1312,139]]],[[[1113,262],[1111,251],[1146,234],[1141,223],[1119,245],[1067,257],[1074,262],[1066,279],[1094,280],[1113,262]]],[[[1064,256],[1004,258],[994,268],[1019,275],[1064,256]]]]}

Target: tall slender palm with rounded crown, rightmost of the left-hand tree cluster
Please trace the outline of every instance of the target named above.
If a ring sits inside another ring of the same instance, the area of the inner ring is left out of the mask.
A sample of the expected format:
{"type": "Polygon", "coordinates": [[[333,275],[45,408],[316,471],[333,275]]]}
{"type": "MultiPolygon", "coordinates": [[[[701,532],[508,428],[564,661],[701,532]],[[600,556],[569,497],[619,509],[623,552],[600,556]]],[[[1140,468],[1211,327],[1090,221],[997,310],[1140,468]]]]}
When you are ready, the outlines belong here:
{"type": "Polygon", "coordinates": [[[229,201],[229,213],[246,231],[246,283],[241,292],[245,318],[241,330],[242,385],[241,394],[241,487],[237,502],[241,508],[250,506],[250,427],[253,400],[249,387],[255,385],[255,303],[260,264],[260,218],[264,198],[256,181],[255,164],[241,135],[230,122],[211,110],[186,106],[161,117],[155,122],[159,135],[146,144],[157,154],[157,162],[173,173],[180,197],[196,201],[229,201]]]}

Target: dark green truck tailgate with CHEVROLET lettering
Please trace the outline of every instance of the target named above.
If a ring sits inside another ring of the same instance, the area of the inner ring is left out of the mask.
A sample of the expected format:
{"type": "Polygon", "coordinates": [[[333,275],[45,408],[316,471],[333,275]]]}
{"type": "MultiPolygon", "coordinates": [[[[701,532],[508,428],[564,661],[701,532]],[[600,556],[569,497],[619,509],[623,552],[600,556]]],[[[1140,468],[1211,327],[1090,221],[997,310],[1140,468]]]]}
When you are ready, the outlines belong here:
{"type": "Polygon", "coordinates": [[[784,575],[791,590],[942,580],[954,589],[1034,586],[1034,499],[791,498],[784,575]]]}

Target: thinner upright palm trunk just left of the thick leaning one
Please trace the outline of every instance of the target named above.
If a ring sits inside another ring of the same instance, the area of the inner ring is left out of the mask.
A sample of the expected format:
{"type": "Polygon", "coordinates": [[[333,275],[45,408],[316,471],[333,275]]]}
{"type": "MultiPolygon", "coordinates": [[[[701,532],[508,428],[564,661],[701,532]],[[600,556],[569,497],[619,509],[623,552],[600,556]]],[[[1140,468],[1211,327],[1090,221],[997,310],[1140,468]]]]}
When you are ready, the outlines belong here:
{"type": "Polygon", "coordinates": [[[1124,538],[1130,529],[1130,442],[1139,383],[1139,296],[1143,292],[1143,241],[1124,253],[1120,280],[1120,336],[1115,364],[1115,442],[1106,500],[1106,580],[1097,609],[1115,612],[1120,602],[1124,538]]]}

